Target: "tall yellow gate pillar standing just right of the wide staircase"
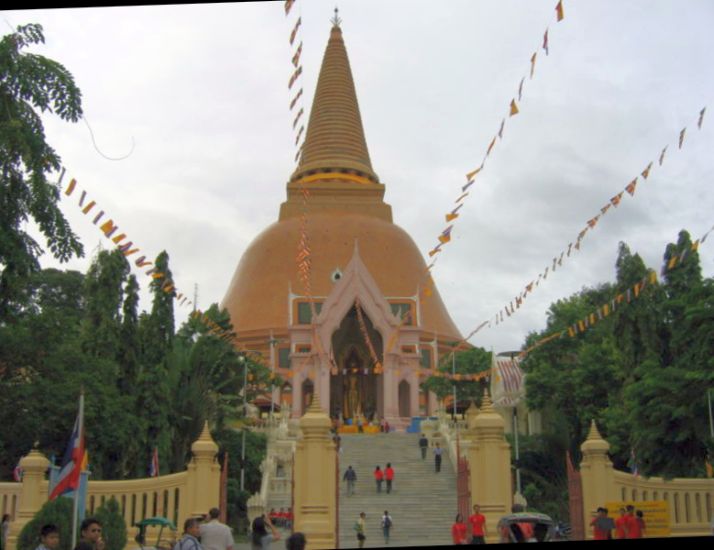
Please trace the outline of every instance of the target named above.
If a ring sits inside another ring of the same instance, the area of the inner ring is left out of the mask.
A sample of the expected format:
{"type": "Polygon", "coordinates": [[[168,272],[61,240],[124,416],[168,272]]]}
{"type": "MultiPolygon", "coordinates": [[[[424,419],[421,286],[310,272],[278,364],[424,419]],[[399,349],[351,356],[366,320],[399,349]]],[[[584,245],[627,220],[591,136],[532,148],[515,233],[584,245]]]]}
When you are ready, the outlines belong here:
{"type": "Polygon", "coordinates": [[[471,504],[478,504],[486,516],[486,541],[498,542],[498,520],[511,513],[511,446],[504,436],[503,418],[493,409],[488,393],[470,420],[474,434],[467,450],[471,504]]]}

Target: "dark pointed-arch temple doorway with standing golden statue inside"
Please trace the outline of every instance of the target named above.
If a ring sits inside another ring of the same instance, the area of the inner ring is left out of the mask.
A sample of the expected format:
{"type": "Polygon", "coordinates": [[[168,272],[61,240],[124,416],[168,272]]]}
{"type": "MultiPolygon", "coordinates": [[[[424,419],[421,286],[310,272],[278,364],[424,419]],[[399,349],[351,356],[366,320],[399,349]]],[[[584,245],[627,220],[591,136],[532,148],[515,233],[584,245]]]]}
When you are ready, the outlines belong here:
{"type": "MultiPolygon", "coordinates": [[[[381,357],[382,338],[364,311],[362,317],[377,357],[381,357]]],[[[347,424],[356,422],[358,417],[366,422],[381,418],[381,376],[374,374],[373,360],[354,306],[332,335],[332,357],[330,416],[347,424]]]]}

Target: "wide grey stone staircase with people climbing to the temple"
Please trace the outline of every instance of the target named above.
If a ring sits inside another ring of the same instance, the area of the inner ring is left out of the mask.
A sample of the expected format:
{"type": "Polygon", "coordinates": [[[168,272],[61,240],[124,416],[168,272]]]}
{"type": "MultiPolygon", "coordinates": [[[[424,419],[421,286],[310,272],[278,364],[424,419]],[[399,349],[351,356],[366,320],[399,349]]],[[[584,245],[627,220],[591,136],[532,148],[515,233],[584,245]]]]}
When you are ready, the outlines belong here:
{"type": "Polygon", "coordinates": [[[342,436],[340,461],[340,548],[357,548],[353,526],[360,512],[365,512],[365,548],[384,547],[381,519],[389,510],[393,526],[389,546],[450,545],[451,525],[456,517],[456,473],[444,453],[441,472],[434,471],[434,455],[428,450],[421,459],[419,434],[389,433],[342,436]],[[377,493],[375,466],[394,468],[392,492],[377,493]],[[342,481],[347,466],[357,473],[355,494],[347,496],[347,482],[342,481]]]}

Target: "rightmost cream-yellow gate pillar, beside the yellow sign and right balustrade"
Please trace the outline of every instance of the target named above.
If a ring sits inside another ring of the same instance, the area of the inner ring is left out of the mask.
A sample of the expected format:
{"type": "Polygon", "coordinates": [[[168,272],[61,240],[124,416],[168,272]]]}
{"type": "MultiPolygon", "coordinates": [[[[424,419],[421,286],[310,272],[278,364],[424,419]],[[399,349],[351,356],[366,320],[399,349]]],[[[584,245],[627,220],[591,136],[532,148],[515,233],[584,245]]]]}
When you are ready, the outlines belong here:
{"type": "Polygon", "coordinates": [[[583,483],[583,518],[585,536],[593,538],[590,521],[596,515],[600,506],[607,502],[619,500],[615,494],[614,474],[612,462],[607,452],[610,444],[605,441],[593,420],[590,424],[590,433],[580,446],[583,460],[580,463],[580,475],[583,483]]]}

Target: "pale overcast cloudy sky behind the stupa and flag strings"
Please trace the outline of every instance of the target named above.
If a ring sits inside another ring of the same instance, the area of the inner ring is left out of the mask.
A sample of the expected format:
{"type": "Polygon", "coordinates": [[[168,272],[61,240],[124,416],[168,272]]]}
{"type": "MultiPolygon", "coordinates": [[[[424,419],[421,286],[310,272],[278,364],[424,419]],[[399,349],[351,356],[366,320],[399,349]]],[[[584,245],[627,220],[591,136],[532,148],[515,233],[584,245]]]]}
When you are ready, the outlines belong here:
{"type": "MultiPolygon", "coordinates": [[[[519,349],[545,328],[551,302],[614,280],[619,241],[659,271],[686,228],[714,224],[714,3],[710,0],[341,0],[340,17],[372,165],[394,222],[425,257],[444,214],[481,162],[526,78],[456,220],[434,279],[463,334],[492,318],[552,264],[586,222],[650,162],[623,197],[507,322],[471,343],[519,349]],[[549,26],[550,54],[540,46],[549,26]],[[679,131],[688,127],[681,151],[679,131]],[[663,166],[657,157],[669,145],[663,166]]],[[[3,34],[30,22],[82,90],[83,124],[47,119],[67,178],[153,258],[166,249],[177,287],[219,302],[248,244],[277,220],[294,169],[287,82],[297,16],[309,114],[334,1],[5,11],[3,34]]],[[[307,120],[307,117],[306,117],[307,120]]],[[[74,197],[73,197],[74,198],[74,197]]],[[[107,247],[75,200],[62,209],[93,251],[107,247]]],[[[701,248],[714,273],[714,238],[701,248]]],[[[49,255],[43,266],[58,266],[49,255]]],[[[137,273],[141,273],[138,272],[137,273]]],[[[148,277],[140,274],[141,307],[148,277]]],[[[177,308],[177,322],[188,309],[177,308]]]]}

